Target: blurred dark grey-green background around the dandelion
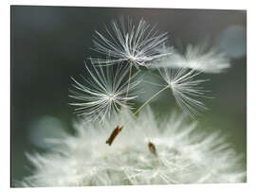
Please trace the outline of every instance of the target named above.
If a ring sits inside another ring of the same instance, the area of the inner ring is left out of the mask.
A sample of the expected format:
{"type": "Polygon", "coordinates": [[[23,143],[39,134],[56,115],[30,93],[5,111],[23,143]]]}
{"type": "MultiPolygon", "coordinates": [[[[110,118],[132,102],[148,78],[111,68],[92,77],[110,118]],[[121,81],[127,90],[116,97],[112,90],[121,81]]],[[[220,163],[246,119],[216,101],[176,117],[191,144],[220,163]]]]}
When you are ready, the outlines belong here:
{"type": "MultiPolygon", "coordinates": [[[[198,121],[202,131],[222,131],[235,150],[247,155],[246,10],[12,6],[11,183],[31,173],[26,152],[46,152],[44,138],[62,137],[62,130],[72,133],[76,116],[67,104],[70,77],[83,73],[86,58],[97,56],[89,49],[94,31],[104,31],[104,24],[121,15],[157,24],[158,30],[169,33],[170,44],[208,39],[229,56],[232,66],[227,72],[203,75],[210,79],[205,87],[214,99],[205,100],[210,111],[198,121]]],[[[143,87],[137,104],[155,92],[143,87]]],[[[152,104],[155,111],[176,108],[170,93],[159,98],[152,104]]]]}

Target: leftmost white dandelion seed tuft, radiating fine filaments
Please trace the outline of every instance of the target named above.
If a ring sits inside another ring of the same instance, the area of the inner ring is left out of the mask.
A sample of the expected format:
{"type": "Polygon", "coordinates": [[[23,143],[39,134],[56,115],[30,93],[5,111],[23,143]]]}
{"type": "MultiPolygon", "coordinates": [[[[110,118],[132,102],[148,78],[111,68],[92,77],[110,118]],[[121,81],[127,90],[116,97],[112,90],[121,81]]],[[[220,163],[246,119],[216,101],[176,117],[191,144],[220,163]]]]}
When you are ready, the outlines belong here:
{"type": "Polygon", "coordinates": [[[70,105],[77,107],[75,113],[88,120],[100,120],[102,122],[113,114],[119,115],[121,107],[131,109],[128,101],[137,97],[133,93],[140,82],[133,80],[137,74],[134,74],[129,80],[131,93],[126,96],[128,67],[121,64],[115,68],[113,66],[95,67],[92,65],[92,69],[89,69],[85,64],[85,68],[89,76],[82,77],[83,82],[72,78],[75,90],[70,90],[70,97],[76,101],[70,105]]]}

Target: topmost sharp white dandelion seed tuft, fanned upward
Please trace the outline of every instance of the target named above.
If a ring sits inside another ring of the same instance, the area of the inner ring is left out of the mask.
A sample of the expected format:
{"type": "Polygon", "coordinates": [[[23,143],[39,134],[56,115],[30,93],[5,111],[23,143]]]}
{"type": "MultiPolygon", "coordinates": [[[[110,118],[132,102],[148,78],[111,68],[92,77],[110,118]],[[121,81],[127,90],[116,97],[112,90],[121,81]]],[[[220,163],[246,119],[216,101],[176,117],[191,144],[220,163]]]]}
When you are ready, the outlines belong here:
{"type": "Polygon", "coordinates": [[[129,18],[113,21],[112,28],[106,27],[107,35],[96,31],[93,50],[110,57],[105,60],[91,59],[101,65],[128,61],[135,66],[149,66],[150,61],[169,55],[161,54],[158,49],[167,42],[167,33],[160,34],[155,26],[150,26],[143,19],[134,24],[129,18]]]}

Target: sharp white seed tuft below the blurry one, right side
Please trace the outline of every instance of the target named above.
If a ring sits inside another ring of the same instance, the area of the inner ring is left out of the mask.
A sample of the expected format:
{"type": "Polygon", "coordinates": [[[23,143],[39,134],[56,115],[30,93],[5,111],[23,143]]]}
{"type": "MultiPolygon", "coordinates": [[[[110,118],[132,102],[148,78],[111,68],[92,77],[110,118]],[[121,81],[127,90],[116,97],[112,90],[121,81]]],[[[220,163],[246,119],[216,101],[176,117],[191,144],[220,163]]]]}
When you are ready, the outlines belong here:
{"type": "Polygon", "coordinates": [[[198,85],[206,79],[195,79],[200,72],[190,69],[160,69],[160,75],[167,82],[166,87],[170,87],[175,101],[183,112],[195,118],[195,114],[208,108],[196,97],[207,97],[202,87],[198,85]]]}

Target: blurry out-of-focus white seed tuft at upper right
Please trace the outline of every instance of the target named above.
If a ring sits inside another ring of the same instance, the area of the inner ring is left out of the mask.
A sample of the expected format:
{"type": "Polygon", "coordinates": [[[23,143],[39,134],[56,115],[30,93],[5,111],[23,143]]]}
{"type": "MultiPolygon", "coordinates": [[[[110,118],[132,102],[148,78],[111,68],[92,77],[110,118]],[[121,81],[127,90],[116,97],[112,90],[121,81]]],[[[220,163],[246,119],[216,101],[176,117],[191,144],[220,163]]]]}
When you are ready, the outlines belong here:
{"type": "Polygon", "coordinates": [[[184,54],[174,47],[163,46],[160,52],[172,52],[152,64],[153,67],[190,68],[203,73],[221,73],[230,67],[229,58],[217,48],[208,48],[207,44],[189,44],[184,54]]]}

